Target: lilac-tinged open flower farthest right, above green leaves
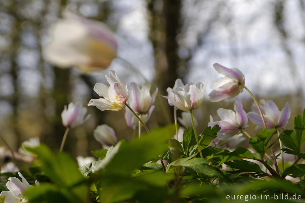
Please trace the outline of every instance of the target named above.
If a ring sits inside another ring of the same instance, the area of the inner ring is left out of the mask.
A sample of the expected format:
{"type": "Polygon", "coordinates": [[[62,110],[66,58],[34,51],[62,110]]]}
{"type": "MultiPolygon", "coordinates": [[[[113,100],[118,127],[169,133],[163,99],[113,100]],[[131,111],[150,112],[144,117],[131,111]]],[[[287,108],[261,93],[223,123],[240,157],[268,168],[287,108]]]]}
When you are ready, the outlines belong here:
{"type": "MultiPolygon", "coordinates": [[[[290,118],[291,110],[288,102],[286,102],[282,111],[279,111],[276,104],[269,100],[265,102],[263,114],[267,128],[284,128],[290,118]]],[[[264,123],[259,112],[249,112],[247,115],[254,124],[264,128],[264,123]]]]}

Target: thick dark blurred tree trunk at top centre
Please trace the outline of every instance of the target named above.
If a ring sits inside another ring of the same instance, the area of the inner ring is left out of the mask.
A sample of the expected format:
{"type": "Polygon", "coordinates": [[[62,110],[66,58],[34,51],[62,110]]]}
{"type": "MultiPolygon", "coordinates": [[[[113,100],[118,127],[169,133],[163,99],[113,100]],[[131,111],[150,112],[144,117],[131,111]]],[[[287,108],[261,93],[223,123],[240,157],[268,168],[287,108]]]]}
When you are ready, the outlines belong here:
{"type": "Polygon", "coordinates": [[[178,78],[177,36],[181,30],[181,0],[151,0],[148,3],[150,14],[150,36],[155,55],[156,83],[160,93],[167,95],[167,87],[173,87],[178,78]],[[163,5],[163,8],[160,8],[163,5]]]}

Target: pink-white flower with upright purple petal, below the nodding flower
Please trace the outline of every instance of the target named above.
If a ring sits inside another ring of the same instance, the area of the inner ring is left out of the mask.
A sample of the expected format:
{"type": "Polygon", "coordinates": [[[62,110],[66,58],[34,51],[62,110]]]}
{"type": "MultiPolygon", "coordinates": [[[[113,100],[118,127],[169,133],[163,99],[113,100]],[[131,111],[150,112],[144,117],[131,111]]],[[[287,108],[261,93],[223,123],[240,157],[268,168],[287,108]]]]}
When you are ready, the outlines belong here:
{"type": "Polygon", "coordinates": [[[220,108],[217,110],[218,116],[221,118],[220,121],[209,122],[208,126],[219,125],[219,133],[225,136],[233,136],[241,133],[241,129],[249,127],[248,117],[244,109],[242,109],[242,103],[236,98],[234,111],[231,109],[220,108]]]}

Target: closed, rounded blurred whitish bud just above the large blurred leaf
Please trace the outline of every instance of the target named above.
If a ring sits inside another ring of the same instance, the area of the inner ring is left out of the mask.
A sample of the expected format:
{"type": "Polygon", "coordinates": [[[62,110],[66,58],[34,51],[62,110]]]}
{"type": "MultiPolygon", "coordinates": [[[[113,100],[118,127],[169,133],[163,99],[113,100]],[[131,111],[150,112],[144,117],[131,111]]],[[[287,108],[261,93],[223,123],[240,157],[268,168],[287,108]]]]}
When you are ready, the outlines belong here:
{"type": "Polygon", "coordinates": [[[115,135],[113,128],[106,124],[97,126],[93,136],[104,148],[109,148],[110,146],[117,144],[117,136],[115,135]]]}

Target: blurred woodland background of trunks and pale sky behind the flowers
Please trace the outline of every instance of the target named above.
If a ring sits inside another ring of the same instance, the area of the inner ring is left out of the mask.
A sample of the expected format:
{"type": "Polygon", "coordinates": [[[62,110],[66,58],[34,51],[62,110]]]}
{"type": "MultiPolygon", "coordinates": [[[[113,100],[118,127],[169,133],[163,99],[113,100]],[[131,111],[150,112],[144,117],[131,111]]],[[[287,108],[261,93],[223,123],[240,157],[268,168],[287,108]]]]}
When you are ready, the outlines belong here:
{"type": "MultiPolygon", "coordinates": [[[[50,27],[64,8],[109,25],[118,40],[117,55],[157,84],[160,95],[167,95],[166,88],[173,87],[177,78],[185,83],[209,80],[205,101],[194,111],[199,131],[210,115],[219,119],[218,108],[234,107],[235,99],[218,103],[208,99],[211,83],[223,77],[213,68],[215,62],[239,68],[258,99],[273,100],[280,110],[289,102],[287,129],[305,107],[304,0],[1,0],[0,133],[14,150],[35,136],[58,149],[65,131],[60,114],[64,105],[77,101],[91,118],[70,131],[65,151],[88,156],[102,148],[93,137],[101,124],[113,127],[120,139],[132,137],[125,109],[102,112],[87,104],[99,98],[93,87],[107,84],[104,76],[109,69],[127,84],[142,85],[143,78],[118,59],[107,70],[90,74],[45,61],[42,50],[51,40],[50,27]]],[[[251,111],[249,94],[244,91],[239,98],[246,112],[251,111]]],[[[149,128],[173,122],[172,113],[160,98],[149,128]]],[[[249,125],[249,132],[257,132],[251,121],[249,125]]]]}

